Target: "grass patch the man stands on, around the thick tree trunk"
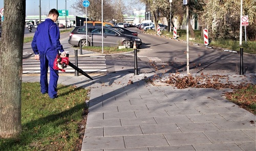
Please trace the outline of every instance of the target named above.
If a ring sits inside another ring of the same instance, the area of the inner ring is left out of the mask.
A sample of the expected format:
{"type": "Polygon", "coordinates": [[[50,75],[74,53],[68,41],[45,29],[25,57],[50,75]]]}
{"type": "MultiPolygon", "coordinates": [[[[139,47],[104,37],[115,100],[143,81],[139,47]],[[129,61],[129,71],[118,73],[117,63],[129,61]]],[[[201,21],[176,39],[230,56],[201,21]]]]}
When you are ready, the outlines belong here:
{"type": "Polygon", "coordinates": [[[22,133],[1,139],[1,150],[76,150],[78,125],[88,90],[58,85],[58,98],[40,93],[38,82],[22,83],[22,133]]]}

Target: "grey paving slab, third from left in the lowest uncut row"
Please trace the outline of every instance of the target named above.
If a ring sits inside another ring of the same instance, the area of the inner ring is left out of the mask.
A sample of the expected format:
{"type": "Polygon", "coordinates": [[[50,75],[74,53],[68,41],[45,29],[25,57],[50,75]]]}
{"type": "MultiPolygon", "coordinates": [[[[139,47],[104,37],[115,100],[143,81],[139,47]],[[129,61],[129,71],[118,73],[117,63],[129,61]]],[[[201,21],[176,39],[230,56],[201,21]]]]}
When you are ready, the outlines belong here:
{"type": "Polygon", "coordinates": [[[211,144],[211,141],[202,132],[164,135],[170,145],[211,144]]]}

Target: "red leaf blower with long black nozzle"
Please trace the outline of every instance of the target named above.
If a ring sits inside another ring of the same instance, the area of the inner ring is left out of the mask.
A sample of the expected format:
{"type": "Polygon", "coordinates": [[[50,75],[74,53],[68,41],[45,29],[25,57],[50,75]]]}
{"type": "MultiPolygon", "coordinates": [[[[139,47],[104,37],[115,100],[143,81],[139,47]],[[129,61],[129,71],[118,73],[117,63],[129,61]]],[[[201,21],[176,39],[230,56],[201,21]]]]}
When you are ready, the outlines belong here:
{"type": "Polygon", "coordinates": [[[71,63],[69,61],[69,54],[66,54],[66,56],[61,56],[61,54],[57,54],[54,62],[53,62],[53,69],[55,70],[60,70],[62,72],[65,72],[65,68],[67,68],[67,65],[69,65],[70,67],[72,67],[73,69],[75,69],[76,71],[78,71],[79,73],[81,73],[82,75],[88,77],[89,79],[93,80],[92,77],[90,77],[87,73],[85,73],[84,71],[82,71],[80,68],[76,67],[73,63],[71,63]]]}

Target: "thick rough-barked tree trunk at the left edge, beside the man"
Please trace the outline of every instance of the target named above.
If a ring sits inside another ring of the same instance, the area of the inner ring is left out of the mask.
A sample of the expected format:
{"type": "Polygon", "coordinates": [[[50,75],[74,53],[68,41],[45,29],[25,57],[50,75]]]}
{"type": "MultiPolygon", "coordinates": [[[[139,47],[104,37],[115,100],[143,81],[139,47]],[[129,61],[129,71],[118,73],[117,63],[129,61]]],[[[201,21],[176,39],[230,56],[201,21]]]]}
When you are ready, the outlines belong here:
{"type": "Polygon", "coordinates": [[[17,137],[22,130],[22,55],[25,0],[4,0],[5,19],[0,42],[0,138],[17,137]]]}

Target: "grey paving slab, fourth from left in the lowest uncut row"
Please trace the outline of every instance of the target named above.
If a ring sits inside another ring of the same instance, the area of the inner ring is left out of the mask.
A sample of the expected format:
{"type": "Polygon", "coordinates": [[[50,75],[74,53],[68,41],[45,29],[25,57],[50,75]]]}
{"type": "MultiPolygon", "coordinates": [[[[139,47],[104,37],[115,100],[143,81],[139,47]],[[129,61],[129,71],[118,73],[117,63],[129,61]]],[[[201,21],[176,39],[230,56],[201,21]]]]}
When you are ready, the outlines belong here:
{"type": "Polygon", "coordinates": [[[253,139],[242,131],[216,131],[204,132],[213,143],[234,143],[234,142],[253,142],[253,139]]]}

